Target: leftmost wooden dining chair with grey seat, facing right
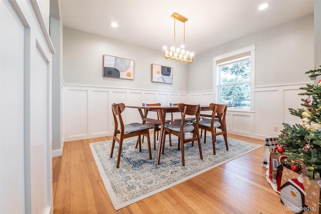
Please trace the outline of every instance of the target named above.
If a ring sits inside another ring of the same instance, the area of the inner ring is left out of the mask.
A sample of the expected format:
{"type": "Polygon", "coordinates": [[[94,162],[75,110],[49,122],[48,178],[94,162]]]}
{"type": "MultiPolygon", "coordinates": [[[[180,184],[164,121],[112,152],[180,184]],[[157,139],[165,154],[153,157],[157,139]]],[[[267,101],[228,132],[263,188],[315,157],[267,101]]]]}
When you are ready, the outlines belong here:
{"type": "Polygon", "coordinates": [[[112,114],[114,117],[114,123],[115,123],[114,127],[115,128],[114,128],[114,134],[113,134],[113,139],[112,139],[110,158],[113,155],[115,141],[117,141],[119,144],[119,149],[118,149],[116,167],[117,168],[119,167],[123,140],[128,137],[138,136],[139,151],[141,152],[140,135],[145,135],[147,137],[149,159],[151,159],[150,140],[149,140],[150,126],[144,125],[141,123],[129,123],[129,124],[124,125],[122,117],[121,117],[121,113],[125,110],[125,105],[123,103],[118,103],[118,104],[113,103],[111,105],[111,109],[112,109],[112,114]],[[119,126],[119,129],[118,129],[118,126],[119,126]]]}

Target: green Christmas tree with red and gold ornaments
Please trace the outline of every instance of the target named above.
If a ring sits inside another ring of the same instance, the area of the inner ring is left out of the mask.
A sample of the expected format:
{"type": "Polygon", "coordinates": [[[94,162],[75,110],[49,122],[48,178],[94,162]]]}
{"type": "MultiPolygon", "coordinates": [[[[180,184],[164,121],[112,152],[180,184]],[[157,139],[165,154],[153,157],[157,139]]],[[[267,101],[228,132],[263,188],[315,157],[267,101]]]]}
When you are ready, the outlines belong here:
{"type": "MultiPolygon", "coordinates": [[[[321,66],[320,66],[321,67],[321,66]]],[[[305,72],[311,80],[321,75],[321,69],[305,72]]],[[[284,154],[288,156],[286,164],[289,166],[293,160],[301,160],[307,171],[314,175],[321,172],[321,80],[319,84],[300,88],[304,92],[299,95],[302,108],[290,108],[290,114],[302,118],[302,123],[289,125],[283,123],[278,142],[284,144],[284,154]]],[[[298,168],[298,167],[296,167],[298,168]]],[[[295,171],[295,170],[294,170],[295,171]]]]}

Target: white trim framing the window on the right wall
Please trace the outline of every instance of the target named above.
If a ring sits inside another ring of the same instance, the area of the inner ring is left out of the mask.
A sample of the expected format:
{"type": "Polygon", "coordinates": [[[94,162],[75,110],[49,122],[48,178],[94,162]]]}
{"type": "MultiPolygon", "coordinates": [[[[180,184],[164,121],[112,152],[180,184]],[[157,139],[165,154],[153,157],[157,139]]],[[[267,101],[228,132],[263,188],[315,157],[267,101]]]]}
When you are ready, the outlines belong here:
{"type": "Polygon", "coordinates": [[[236,51],[229,52],[227,54],[222,54],[216,57],[213,57],[213,95],[215,97],[216,103],[220,102],[220,89],[219,89],[219,72],[217,72],[217,64],[216,61],[222,60],[228,57],[232,57],[238,54],[242,54],[245,52],[250,52],[251,56],[251,78],[250,78],[250,109],[233,109],[236,111],[254,111],[254,80],[255,80],[255,45],[251,45],[242,49],[238,49],[236,51]]]}

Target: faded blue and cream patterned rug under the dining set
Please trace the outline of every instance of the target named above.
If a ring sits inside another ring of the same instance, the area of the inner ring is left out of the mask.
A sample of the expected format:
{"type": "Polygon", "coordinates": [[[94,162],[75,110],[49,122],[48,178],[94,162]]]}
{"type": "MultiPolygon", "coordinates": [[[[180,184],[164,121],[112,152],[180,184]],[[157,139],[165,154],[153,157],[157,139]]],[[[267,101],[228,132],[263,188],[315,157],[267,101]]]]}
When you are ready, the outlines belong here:
{"type": "MultiPolygon", "coordinates": [[[[197,142],[194,146],[191,143],[184,145],[185,166],[182,166],[181,150],[177,148],[178,138],[173,135],[171,147],[166,136],[165,152],[161,155],[159,165],[156,164],[157,149],[152,149],[152,159],[148,159],[146,143],[142,144],[142,152],[135,149],[136,137],[124,140],[119,168],[116,168],[117,142],[112,158],[109,157],[111,140],[90,143],[90,147],[110,200],[118,210],[262,146],[228,138],[229,150],[226,151],[224,138],[217,136],[216,155],[213,155],[211,137],[207,136],[207,143],[203,138],[203,160],[200,159],[197,142]]],[[[152,141],[152,135],[150,139],[152,141]]]]}

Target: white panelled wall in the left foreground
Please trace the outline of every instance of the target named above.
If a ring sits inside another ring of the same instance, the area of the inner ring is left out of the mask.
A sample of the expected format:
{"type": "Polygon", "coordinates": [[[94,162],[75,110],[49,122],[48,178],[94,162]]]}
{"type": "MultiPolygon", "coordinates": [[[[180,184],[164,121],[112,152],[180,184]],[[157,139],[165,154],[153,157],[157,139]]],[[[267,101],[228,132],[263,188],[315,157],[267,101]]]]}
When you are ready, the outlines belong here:
{"type": "Polygon", "coordinates": [[[54,49],[46,9],[37,1],[0,2],[0,213],[53,212],[54,49]]]}

